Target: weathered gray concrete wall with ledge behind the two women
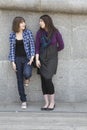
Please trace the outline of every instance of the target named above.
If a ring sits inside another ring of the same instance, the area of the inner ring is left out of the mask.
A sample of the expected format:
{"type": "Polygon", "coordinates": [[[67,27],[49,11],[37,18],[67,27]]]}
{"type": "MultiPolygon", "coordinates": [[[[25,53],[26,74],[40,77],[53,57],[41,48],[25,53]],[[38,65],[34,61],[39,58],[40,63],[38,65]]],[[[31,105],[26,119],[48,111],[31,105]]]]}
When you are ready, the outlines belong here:
{"type": "MultiPolygon", "coordinates": [[[[8,61],[9,33],[15,16],[25,18],[34,37],[39,17],[48,14],[62,33],[65,49],[59,52],[53,78],[58,102],[87,100],[87,1],[86,0],[0,0],[0,103],[19,101],[16,75],[8,61]]],[[[29,101],[42,101],[40,77],[33,69],[29,101]]]]}

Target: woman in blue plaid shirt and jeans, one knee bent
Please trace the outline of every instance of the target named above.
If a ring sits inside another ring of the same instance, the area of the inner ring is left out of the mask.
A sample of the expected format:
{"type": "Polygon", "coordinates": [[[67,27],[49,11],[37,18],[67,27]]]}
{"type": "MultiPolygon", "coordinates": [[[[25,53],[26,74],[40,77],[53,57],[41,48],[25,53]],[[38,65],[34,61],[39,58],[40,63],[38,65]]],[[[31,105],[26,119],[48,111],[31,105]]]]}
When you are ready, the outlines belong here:
{"type": "Polygon", "coordinates": [[[21,107],[27,108],[24,79],[29,80],[32,75],[35,46],[32,32],[26,29],[26,23],[23,17],[14,18],[9,42],[9,60],[17,75],[18,92],[22,102],[21,107]]]}

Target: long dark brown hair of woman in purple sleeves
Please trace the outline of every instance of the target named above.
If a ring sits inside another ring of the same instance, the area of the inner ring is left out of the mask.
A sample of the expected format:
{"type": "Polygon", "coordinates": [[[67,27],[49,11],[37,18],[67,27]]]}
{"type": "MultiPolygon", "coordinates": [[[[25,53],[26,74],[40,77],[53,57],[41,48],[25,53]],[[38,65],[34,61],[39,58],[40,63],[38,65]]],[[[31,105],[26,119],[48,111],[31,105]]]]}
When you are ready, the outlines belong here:
{"type": "MultiPolygon", "coordinates": [[[[52,34],[56,31],[58,31],[58,29],[54,26],[53,21],[49,15],[42,15],[40,17],[40,19],[42,19],[44,21],[45,27],[48,30],[48,39],[50,39],[52,34]]],[[[43,30],[43,29],[40,28],[40,30],[43,30]]]]}

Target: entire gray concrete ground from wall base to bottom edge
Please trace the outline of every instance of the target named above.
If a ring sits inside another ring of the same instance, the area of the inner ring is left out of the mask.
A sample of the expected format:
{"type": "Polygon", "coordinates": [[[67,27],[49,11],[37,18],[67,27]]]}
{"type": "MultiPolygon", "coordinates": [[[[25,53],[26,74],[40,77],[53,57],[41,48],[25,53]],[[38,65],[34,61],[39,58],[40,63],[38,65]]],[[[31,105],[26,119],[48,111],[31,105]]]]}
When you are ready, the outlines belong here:
{"type": "Polygon", "coordinates": [[[0,130],[87,130],[87,103],[56,103],[53,111],[41,111],[43,103],[0,105],[0,130]]]}

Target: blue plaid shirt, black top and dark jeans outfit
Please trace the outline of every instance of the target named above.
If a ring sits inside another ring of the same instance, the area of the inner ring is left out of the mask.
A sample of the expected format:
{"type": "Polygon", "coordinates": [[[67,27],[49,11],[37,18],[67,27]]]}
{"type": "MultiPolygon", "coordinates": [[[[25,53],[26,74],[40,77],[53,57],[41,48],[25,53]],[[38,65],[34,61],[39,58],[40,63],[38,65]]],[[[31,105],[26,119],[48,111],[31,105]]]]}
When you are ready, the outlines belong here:
{"type": "MultiPolygon", "coordinates": [[[[17,40],[16,33],[10,34],[10,53],[9,60],[16,64],[16,75],[18,83],[18,92],[20,100],[26,102],[26,94],[24,89],[24,79],[28,79],[32,75],[32,65],[28,62],[31,56],[35,55],[35,45],[32,32],[28,29],[23,31],[23,39],[17,40]]],[[[24,104],[23,104],[24,105],[24,104]]]]}

